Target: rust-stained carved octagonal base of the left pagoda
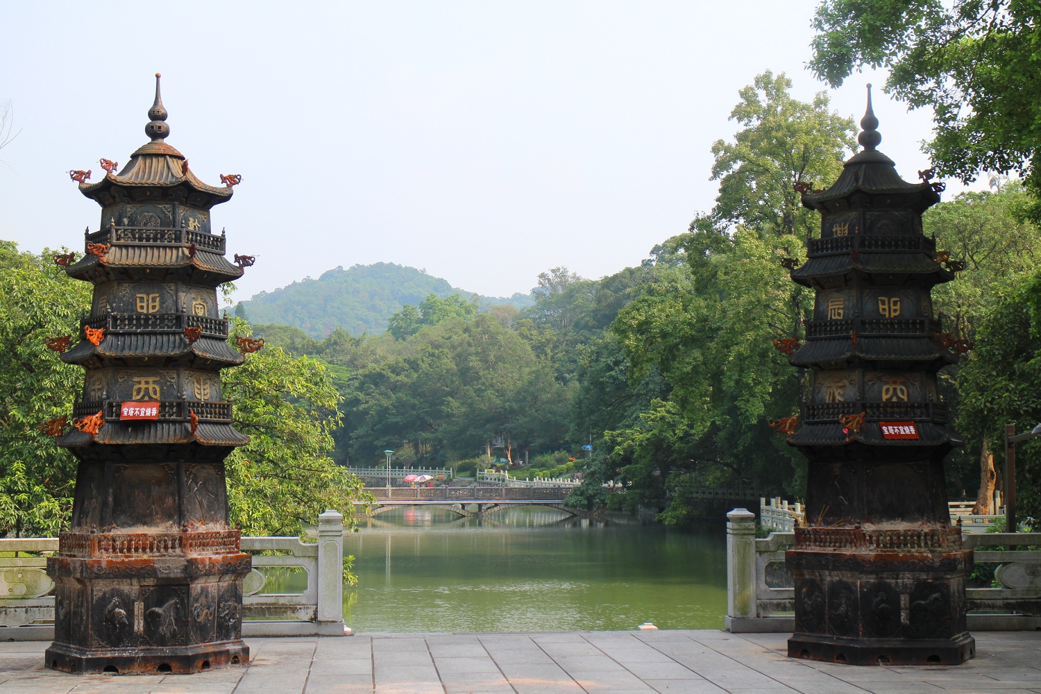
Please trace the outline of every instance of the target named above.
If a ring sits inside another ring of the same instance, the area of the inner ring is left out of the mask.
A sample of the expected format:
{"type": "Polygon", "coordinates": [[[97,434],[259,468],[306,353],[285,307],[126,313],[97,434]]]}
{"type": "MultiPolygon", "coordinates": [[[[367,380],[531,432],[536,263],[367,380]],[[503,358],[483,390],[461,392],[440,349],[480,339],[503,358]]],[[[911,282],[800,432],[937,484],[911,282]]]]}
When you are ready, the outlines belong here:
{"type": "Polygon", "coordinates": [[[199,672],[249,662],[242,640],[238,531],[62,533],[47,667],[66,672],[199,672]]]}

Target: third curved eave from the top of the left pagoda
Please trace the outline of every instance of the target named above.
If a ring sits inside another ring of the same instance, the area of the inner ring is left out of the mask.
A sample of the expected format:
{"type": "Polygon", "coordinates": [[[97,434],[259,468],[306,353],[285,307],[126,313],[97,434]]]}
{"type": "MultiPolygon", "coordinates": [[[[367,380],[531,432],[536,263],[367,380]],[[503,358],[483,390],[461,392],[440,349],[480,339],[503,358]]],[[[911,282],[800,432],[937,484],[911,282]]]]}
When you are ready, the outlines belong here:
{"type": "Polygon", "coordinates": [[[146,357],[170,360],[194,357],[196,362],[208,362],[221,367],[237,366],[246,361],[242,353],[222,339],[204,335],[189,344],[183,335],[177,333],[105,335],[97,346],[90,340],[80,339],[61,355],[61,361],[87,366],[146,357]]]}

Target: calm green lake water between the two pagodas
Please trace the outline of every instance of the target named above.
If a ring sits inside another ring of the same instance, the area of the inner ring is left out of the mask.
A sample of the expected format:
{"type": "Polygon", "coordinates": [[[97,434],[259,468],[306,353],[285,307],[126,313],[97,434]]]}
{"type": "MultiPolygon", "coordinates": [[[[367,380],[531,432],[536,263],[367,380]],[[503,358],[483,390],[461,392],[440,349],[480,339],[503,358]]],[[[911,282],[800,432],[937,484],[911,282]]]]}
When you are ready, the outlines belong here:
{"type": "Polygon", "coordinates": [[[727,611],[721,524],[406,508],[363,520],[344,551],[358,576],[344,596],[356,632],[719,628],[727,611]]]}

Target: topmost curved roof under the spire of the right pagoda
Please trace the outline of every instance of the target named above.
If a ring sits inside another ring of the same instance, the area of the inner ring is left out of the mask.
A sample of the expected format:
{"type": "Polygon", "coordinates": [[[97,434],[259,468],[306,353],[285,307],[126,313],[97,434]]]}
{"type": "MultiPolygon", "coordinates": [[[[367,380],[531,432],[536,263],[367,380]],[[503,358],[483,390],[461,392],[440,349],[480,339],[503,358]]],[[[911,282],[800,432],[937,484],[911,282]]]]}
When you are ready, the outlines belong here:
{"type": "MultiPolygon", "coordinates": [[[[864,207],[853,200],[867,197],[885,207],[907,207],[917,212],[940,202],[940,195],[930,183],[908,183],[899,177],[892,159],[882,152],[863,151],[842,168],[838,180],[827,190],[804,192],[803,205],[821,212],[864,207]]],[[[870,206],[873,206],[870,205],[870,206]]]]}

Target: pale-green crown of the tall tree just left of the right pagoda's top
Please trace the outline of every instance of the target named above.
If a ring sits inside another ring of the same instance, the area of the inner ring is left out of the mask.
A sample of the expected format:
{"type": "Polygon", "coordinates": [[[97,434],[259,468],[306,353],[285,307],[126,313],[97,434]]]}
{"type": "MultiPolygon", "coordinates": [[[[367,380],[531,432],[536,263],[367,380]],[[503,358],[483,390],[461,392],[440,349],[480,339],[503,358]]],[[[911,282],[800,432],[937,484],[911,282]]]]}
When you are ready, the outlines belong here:
{"type": "Polygon", "coordinates": [[[743,126],[734,143],[712,145],[712,180],[719,195],[712,220],[778,234],[809,235],[816,213],[802,206],[795,183],[834,181],[844,154],[856,151],[850,118],[829,111],[828,93],[793,99],[791,80],[767,70],[740,92],[730,120],[743,126]]]}

